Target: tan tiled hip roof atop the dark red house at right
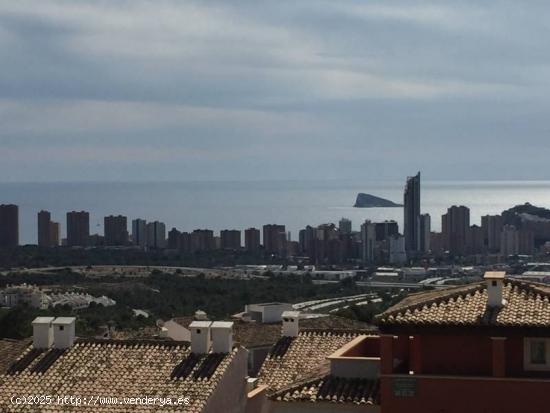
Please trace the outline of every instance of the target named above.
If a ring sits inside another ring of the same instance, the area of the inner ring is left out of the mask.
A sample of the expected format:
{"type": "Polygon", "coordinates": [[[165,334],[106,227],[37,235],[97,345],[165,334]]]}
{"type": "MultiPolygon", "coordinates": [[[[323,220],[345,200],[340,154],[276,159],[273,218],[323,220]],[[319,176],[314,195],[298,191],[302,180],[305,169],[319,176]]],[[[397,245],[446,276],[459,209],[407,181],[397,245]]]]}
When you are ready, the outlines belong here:
{"type": "Polygon", "coordinates": [[[488,308],[486,282],[416,293],[379,314],[376,321],[381,330],[406,326],[550,327],[550,286],[504,278],[502,298],[504,306],[488,308]]]}

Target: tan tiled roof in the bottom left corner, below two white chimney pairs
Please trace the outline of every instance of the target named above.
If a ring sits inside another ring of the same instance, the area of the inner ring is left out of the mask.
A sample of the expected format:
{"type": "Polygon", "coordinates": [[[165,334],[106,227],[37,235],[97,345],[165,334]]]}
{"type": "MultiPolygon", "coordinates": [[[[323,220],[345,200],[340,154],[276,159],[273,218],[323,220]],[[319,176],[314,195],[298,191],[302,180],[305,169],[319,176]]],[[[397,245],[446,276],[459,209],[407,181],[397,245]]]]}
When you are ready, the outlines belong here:
{"type": "MultiPolygon", "coordinates": [[[[27,412],[12,405],[11,395],[98,395],[101,397],[189,397],[186,412],[200,412],[234,359],[230,354],[194,355],[173,341],[79,340],[67,350],[37,351],[18,358],[10,374],[0,375],[0,411],[27,412]]],[[[15,358],[14,358],[15,359],[15,358]]],[[[159,406],[103,405],[86,411],[126,413],[158,411],[159,406]]],[[[61,411],[40,406],[41,412],[61,411]]],[[[37,411],[37,410],[33,410],[37,411]]]]}

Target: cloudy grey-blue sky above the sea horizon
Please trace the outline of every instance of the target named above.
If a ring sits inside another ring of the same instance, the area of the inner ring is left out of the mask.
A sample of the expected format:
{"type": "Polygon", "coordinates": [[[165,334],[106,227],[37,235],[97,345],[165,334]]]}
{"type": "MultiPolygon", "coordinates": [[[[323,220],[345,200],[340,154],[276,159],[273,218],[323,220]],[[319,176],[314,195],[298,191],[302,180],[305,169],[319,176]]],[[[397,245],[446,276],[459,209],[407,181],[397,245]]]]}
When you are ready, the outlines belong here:
{"type": "Polygon", "coordinates": [[[550,179],[548,15],[0,0],[0,182],[550,179]]]}

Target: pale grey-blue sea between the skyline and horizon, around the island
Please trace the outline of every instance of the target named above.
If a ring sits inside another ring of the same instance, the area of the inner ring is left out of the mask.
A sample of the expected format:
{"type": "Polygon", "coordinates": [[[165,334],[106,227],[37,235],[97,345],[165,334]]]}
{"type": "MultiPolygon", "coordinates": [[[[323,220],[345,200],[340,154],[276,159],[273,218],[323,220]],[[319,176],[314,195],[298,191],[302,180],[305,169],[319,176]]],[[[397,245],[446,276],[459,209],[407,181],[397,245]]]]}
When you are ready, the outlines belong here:
{"type": "MultiPolygon", "coordinates": [[[[103,233],[103,217],[122,214],[192,231],[240,229],[284,224],[291,239],[306,225],[352,220],[354,230],[369,219],[396,220],[402,208],[354,208],[359,192],[403,203],[403,181],[197,181],[197,182],[52,182],[0,183],[0,203],[19,205],[20,243],[37,242],[39,210],[52,213],[65,236],[65,214],[90,212],[90,232],[103,233]]],[[[529,202],[550,208],[550,181],[423,181],[421,210],[440,230],[441,215],[451,205],[470,208],[471,224],[529,202]]]]}

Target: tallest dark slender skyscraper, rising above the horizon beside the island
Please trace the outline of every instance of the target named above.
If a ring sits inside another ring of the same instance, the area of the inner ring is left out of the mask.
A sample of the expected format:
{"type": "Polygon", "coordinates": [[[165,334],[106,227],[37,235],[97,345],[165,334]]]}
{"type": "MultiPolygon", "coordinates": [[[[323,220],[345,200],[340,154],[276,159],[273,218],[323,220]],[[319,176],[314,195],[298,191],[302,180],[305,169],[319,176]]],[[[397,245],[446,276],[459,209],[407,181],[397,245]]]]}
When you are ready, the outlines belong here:
{"type": "Polygon", "coordinates": [[[405,250],[416,253],[420,250],[420,172],[407,177],[403,200],[405,250]]]}

